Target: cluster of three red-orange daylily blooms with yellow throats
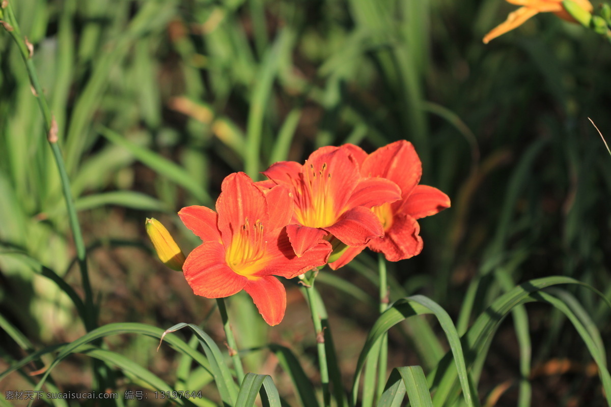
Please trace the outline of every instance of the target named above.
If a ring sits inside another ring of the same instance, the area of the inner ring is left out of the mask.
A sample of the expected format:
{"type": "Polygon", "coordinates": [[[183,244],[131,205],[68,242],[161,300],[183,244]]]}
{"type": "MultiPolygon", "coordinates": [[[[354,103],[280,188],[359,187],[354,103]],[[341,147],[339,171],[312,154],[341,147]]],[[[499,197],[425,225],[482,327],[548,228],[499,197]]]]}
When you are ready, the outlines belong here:
{"type": "Polygon", "coordinates": [[[422,250],[417,219],[450,206],[445,193],[419,185],[420,159],[405,140],[369,155],[355,145],[322,147],[303,165],[277,162],[263,174],[266,181],[254,182],[233,173],[216,212],[189,206],[178,215],[202,239],[183,264],[194,293],[221,298],[244,289],[269,325],[286,308],[274,276],[327,262],[335,270],[365,247],[389,261],[411,258],[422,250]]]}

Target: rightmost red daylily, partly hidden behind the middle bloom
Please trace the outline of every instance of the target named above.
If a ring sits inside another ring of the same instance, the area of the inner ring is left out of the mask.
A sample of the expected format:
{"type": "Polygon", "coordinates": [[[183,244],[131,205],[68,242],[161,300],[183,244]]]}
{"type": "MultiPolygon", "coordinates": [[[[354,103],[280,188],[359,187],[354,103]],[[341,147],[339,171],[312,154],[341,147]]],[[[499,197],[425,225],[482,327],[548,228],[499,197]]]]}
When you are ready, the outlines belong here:
{"type": "Polygon", "coordinates": [[[378,148],[373,153],[353,154],[360,162],[363,176],[379,177],[395,182],[401,188],[401,199],[373,207],[382,223],[384,237],[371,239],[367,246],[349,247],[337,261],[334,270],[348,264],[365,247],[384,253],[389,261],[408,259],[422,251],[422,237],[417,219],[434,215],[450,207],[450,198],[440,190],[419,185],[422,164],[412,143],[405,140],[378,148]]]}

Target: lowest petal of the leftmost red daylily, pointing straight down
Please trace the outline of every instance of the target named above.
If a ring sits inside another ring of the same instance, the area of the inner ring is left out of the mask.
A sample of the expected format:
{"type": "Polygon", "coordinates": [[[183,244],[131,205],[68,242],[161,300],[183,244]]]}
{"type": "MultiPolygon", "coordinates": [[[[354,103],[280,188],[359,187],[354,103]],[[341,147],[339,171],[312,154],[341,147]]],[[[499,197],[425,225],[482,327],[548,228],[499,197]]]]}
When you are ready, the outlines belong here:
{"type": "Polygon", "coordinates": [[[276,277],[263,276],[249,280],[244,290],[252,297],[265,322],[271,326],[282,322],[287,308],[287,292],[276,277]]]}

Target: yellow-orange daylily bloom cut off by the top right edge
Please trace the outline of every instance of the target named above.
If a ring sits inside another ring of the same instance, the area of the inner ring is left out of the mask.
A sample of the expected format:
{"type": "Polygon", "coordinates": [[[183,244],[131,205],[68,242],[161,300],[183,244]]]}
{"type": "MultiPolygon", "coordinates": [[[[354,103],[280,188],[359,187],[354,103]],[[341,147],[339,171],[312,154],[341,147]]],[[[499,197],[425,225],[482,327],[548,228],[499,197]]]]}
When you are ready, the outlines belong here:
{"type": "MultiPolygon", "coordinates": [[[[511,4],[521,5],[518,10],[512,12],[507,17],[504,23],[492,29],[491,32],[486,34],[483,41],[485,44],[499,35],[505,34],[508,31],[513,30],[516,27],[524,24],[526,20],[538,13],[554,13],[558,17],[571,23],[577,23],[577,21],[566,12],[563,6],[563,0],[507,0],[511,4]]],[[[588,0],[573,0],[577,5],[587,12],[592,12],[592,4],[588,0]]]]}

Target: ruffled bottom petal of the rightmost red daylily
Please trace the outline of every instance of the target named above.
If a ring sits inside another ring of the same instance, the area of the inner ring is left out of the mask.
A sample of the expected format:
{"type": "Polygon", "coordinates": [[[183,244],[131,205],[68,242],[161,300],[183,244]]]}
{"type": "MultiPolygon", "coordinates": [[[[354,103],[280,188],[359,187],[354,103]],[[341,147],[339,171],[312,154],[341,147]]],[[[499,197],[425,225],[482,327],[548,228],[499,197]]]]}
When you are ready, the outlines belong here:
{"type": "Polygon", "coordinates": [[[388,261],[409,259],[422,251],[420,225],[406,214],[393,218],[392,226],[382,239],[371,239],[367,245],[371,250],[384,253],[388,261]]]}

